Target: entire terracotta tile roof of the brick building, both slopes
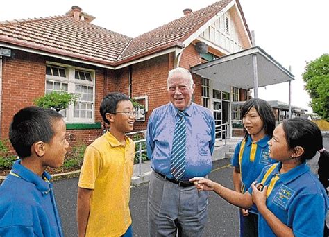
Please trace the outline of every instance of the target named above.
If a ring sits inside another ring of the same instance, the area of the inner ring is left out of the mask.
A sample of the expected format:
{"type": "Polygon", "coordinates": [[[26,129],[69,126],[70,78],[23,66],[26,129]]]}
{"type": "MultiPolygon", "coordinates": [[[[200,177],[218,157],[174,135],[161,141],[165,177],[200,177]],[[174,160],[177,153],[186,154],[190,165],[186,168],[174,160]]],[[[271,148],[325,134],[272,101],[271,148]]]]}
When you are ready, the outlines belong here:
{"type": "Polygon", "coordinates": [[[0,22],[0,42],[119,65],[172,46],[183,47],[190,35],[231,1],[219,1],[134,39],[65,15],[0,22]]]}

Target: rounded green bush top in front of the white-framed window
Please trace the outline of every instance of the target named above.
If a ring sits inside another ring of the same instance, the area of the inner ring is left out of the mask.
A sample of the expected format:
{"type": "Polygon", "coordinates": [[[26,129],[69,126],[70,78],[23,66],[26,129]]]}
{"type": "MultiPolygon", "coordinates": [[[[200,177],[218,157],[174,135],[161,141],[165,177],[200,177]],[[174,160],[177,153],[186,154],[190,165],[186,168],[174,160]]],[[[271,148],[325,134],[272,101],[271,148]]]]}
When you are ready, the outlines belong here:
{"type": "Polygon", "coordinates": [[[59,112],[62,109],[66,109],[69,105],[72,105],[76,99],[77,96],[74,94],[65,91],[52,91],[49,94],[35,99],[34,103],[39,107],[55,109],[59,112]]]}

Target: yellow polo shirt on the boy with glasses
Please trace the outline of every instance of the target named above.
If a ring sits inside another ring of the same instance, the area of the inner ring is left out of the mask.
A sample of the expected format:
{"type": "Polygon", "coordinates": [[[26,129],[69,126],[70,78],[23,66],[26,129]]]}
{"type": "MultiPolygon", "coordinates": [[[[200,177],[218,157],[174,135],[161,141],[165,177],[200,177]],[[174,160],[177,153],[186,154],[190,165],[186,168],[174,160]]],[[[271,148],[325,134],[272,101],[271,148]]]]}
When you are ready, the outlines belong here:
{"type": "Polygon", "coordinates": [[[78,186],[93,189],[86,236],[121,236],[131,225],[130,180],[135,144],[106,132],[85,150],[78,186]]]}

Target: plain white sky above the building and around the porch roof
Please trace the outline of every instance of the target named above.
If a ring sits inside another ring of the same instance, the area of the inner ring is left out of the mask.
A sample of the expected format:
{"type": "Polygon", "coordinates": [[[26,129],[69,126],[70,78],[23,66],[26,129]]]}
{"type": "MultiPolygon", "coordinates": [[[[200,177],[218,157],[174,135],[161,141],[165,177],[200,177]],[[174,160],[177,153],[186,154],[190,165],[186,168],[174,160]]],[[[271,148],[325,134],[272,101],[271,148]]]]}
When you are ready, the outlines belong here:
{"type": "MultiPolygon", "coordinates": [[[[199,10],[216,0],[2,0],[0,21],[65,15],[71,6],[96,17],[93,24],[136,37],[183,16],[183,9],[199,10]]],[[[255,32],[256,45],[283,67],[291,67],[292,105],[308,106],[302,73],[307,62],[329,53],[329,0],[240,0],[249,30],[255,32]]],[[[264,100],[288,103],[288,83],[258,89],[264,100]]]]}

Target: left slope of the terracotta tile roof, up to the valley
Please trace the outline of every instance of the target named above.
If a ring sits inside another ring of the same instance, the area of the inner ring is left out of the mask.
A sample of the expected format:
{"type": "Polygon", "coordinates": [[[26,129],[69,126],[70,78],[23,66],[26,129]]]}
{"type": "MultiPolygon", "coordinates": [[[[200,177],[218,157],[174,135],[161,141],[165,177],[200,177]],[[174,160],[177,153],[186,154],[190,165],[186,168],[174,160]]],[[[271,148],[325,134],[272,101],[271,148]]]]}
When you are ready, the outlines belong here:
{"type": "Polygon", "coordinates": [[[0,42],[107,64],[117,60],[130,40],[70,16],[0,23],[0,42]]]}

